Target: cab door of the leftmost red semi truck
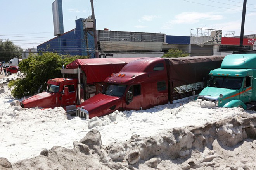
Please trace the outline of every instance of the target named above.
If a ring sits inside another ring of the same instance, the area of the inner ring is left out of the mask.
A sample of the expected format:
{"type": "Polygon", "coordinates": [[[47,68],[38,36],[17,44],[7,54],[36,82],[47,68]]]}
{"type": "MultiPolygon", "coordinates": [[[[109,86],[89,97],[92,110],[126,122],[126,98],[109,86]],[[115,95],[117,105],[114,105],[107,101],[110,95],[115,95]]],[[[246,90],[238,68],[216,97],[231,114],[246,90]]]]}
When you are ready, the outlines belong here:
{"type": "Polygon", "coordinates": [[[76,90],[74,84],[63,85],[61,92],[61,106],[66,107],[68,105],[76,104],[76,90]]]}

